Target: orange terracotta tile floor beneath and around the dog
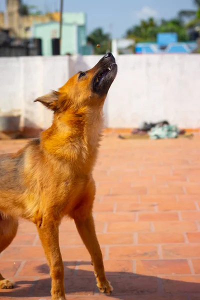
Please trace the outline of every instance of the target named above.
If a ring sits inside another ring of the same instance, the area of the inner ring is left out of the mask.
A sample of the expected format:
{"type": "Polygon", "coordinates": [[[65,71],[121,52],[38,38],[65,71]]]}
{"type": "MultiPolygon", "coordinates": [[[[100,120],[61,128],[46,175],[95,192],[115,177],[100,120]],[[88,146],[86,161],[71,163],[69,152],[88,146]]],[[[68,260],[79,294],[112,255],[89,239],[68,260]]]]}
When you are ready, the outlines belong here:
{"type": "MultiPolygon", "coordinates": [[[[1,141],[12,152],[25,141],[1,141]]],[[[94,170],[96,231],[110,299],[200,299],[200,138],[119,140],[106,134],[94,170]]],[[[60,225],[67,299],[100,300],[89,255],[73,222],[60,225]]],[[[49,299],[48,267],[33,224],[21,221],[0,254],[16,282],[0,299],[49,299]]]]}

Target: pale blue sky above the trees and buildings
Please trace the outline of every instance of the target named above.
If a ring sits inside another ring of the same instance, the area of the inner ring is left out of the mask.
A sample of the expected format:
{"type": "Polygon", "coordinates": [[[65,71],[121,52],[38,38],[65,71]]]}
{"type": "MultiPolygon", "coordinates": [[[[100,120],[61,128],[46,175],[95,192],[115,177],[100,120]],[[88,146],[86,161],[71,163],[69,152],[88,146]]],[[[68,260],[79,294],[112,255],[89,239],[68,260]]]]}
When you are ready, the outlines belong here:
{"type": "MultiPolygon", "coordinates": [[[[59,0],[23,0],[38,9],[59,9],[59,0]]],[[[84,11],[87,15],[87,33],[96,27],[110,32],[113,38],[122,37],[126,29],[140,19],[153,16],[155,19],[175,17],[177,11],[194,9],[192,0],[63,0],[63,11],[84,11]]],[[[0,0],[0,10],[5,9],[5,0],[0,0]]]]}

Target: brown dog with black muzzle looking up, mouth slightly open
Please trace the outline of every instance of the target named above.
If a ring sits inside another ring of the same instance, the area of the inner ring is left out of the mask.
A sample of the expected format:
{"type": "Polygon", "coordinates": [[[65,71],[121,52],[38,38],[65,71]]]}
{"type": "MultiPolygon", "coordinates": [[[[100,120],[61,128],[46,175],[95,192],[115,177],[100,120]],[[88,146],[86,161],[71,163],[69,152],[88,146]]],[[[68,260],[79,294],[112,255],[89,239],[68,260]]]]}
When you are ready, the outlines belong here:
{"type": "MultiPolygon", "coordinates": [[[[100,292],[111,293],[92,217],[92,170],[102,128],[102,107],[117,73],[111,53],[78,72],[58,91],[37,98],[54,112],[50,128],[14,155],[0,157],[0,252],[14,238],[18,217],[36,224],[51,275],[53,300],[65,299],[58,226],[74,219],[91,255],[100,292]]],[[[67,238],[67,237],[66,237],[67,238]]],[[[12,288],[0,274],[0,287],[12,288]]]]}

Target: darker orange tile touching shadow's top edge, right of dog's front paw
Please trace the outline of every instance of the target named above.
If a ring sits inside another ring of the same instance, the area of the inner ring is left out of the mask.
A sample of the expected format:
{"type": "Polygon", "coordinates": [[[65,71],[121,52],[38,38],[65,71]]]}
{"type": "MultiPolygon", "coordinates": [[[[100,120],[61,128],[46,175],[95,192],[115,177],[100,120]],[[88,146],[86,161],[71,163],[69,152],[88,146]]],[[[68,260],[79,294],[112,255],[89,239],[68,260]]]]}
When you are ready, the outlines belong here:
{"type": "Polygon", "coordinates": [[[190,274],[186,259],[137,260],[136,273],[143,275],[190,274]]]}

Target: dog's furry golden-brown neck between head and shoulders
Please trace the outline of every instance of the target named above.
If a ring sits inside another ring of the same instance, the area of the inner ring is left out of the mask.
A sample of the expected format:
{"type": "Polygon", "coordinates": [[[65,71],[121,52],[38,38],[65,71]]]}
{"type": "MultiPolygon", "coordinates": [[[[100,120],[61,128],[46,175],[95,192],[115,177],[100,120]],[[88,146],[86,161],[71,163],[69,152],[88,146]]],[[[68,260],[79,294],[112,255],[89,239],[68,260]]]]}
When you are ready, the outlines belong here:
{"type": "Polygon", "coordinates": [[[43,150],[67,164],[93,167],[103,124],[102,107],[84,107],[54,115],[50,128],[41,133],[43,150]]]}

